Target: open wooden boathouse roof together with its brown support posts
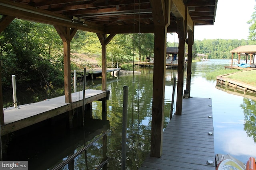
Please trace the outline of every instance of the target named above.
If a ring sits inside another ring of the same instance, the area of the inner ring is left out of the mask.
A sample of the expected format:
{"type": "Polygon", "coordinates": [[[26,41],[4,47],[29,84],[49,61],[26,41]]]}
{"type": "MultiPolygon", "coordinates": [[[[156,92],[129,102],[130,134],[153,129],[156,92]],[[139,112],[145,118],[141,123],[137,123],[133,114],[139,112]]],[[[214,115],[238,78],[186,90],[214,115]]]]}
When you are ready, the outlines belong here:
{"type": "MultiPolygon", "coordinates": [[[[72,103],[70,41],[78,29],[97,33],[102,45],[102,91],[106,89],[107,45],[116,34],[154,33],[151,153],[161,157],[166,65],[166,34],[178,33],[176,115],[182,114],[185,43],[188,44],[186,90],[190,96],[195,26],[213,25],[217,0],[0,0],[0,33],[14,18],[54,25],[63,41],[65,103],[72,103]]],[[[0,76],[1,78],[1,76],[0,76]]],[[[105,95],[106,96],[106,95],[105,95]]],[[[105,101],[105,100],[104,100],[105,101]]],[[[0,119],[5,124],[0,81],[0,119]]],[[[10,127],[11,128],[11,127],[10,127]]],[[[5,135],[2,134],[1,135],[5,135]]]]}

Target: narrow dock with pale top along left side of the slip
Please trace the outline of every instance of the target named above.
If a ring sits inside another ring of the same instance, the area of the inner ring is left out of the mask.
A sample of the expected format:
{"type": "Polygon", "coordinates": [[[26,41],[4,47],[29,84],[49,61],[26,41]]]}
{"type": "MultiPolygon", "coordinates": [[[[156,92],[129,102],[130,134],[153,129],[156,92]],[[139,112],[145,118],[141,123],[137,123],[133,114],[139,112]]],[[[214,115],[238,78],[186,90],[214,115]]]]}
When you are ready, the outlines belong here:
{"type": "MultiPolygon", "coordinates": [[[[106,91],[88,89],[85,92],[84,104],[106,98],[106,96],[106,91]]],[[[65,103],[65,96],[59,96],[41,102],[20,105],[19,109],[14,107],[5,109],[1,135],[6,135],[82,106],[83,91],[72,93],[71,97],[72,103],[65,103]]]]}

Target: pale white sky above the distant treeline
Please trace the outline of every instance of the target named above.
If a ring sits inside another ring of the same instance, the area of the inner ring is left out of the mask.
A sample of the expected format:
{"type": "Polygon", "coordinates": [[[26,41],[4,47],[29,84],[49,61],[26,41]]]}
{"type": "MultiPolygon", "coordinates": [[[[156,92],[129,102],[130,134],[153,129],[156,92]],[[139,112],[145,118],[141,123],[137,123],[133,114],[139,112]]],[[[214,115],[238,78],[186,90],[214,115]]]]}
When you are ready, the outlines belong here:
{"type": "MultiPolygon", "coordinates": [[[[248,39],[255,5],[256,0],[218,0],[214,25],[195,26],[194,40],[248,39]]],[[[167,34],[167,41],[178,41],[178,35],[167,34]]]]}

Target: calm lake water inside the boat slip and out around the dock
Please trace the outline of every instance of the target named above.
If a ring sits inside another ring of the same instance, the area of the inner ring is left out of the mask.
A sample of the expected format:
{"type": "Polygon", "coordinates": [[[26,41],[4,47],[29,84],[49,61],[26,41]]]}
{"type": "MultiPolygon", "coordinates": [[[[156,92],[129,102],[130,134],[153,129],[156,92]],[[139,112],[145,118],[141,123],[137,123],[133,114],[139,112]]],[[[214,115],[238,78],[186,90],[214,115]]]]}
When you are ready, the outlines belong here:
{"type": "MultiPolygon", "coordinates": [[[[256,157],[256,101],[230,94],[230,92],[234,92],[232,89],[216,88],[216,81],[208,81],[203,78],[206,72],[222,69],[228,64],[229,60],[214,59],[207,62],[192,63],[191,96],[212,98],[215,153],[230,154],[238,160],[246,162],[250,156],[256,157]]],[[[110,100],[107,101],[108,120],[110,121],[107,137],[109,170],[121,169],[122,94],[124,86],[129,87],[126,159],[128,169],[137,169],[150,152],[153,68],[140,68],[140,71],[142,72],[140,75],[108,79],[107,89],[110,90],[110,100]]],[[[176,69],[166,70],[164,127],[169,122],[173,78],[177,76],[176,69]]],[[[186,78],[186,74],[184,77],[186,78]]],[[[100,84],[101,80],[93,80],[87,82],[86,86],[91,89],[100,89],[100,84]]],[[[240,95],[244,95],[244,93],[240,92],[240,95]]],[[[249,95],[252,95],[254,99],[256,98],[254,94],[249,95]]],[[[174,111],[175,107],[176,105],[174,105],[174,111]]],[[[101,119],[101,102],[94,102],[92,109],[93,118],[101,119]]],[[[100,123],[95,124],[98,124],[99,128],[102,127],[100,123]]],[[[14,147],[16,153],[27,153],[13,156],[13,159],[29,160],[31,169],[52,169],[70,154],[77,152],[95,139],[92,137],[94,135],[90,134],[99,136],[99,133],[95,132],[97,128],[92,129],[91,127],[92,125],[86,127],[85,131],[76,129],[75,131],[62,131],[62,133],[50,129],[38,135],[42,136],[40,141],[34,137],[30,141],[13,142],[10,145],[14,147]],[[42,162],[45,163],[42,164],[42,162]],[[38,168],[38,164],[41,164],[40,168],[38,168]]],[[[75,169],[95,168],[102,160],[102,146],[102,140],[100,140],[86,153],[78,156],[74,161],[75,169]]],[[[67,165],[63,169],[70,168],[67,165]]]]}

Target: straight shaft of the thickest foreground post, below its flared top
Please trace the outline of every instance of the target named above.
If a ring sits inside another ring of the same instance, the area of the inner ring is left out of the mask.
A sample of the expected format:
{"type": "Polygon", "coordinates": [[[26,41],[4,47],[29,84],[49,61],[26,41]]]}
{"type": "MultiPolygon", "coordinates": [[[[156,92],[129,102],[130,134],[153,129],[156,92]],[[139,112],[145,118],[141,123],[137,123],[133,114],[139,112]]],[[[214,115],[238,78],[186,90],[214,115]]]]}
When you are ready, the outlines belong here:
{"type": "Polygon", "coordinates": [[[151,129],[151,156],[162,155],[164,122],[164,86],[166,65],[166,27],[155,27],[154,76],[151,129]]]}

